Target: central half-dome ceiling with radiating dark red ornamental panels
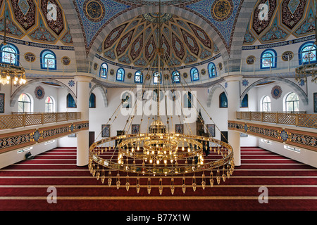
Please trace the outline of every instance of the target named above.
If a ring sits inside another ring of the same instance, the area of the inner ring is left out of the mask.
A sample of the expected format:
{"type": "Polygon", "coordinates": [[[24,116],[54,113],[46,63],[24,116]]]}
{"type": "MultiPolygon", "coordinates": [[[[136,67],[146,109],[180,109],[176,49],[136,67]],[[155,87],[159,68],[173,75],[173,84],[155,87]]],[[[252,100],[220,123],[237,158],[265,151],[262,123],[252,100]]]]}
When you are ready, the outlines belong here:
{"type": "MultiPolygon", "coordinates": [[[[197,63],[213,56],[213,41],[200,27],[177,15],[161,13],[162,47],[169,64],[197,63]]],[[[139,15],[128,23],[118,25],[103,43],[102,55],[118,63],[144,66],[159,44],[159,13],[139,15]]]]}

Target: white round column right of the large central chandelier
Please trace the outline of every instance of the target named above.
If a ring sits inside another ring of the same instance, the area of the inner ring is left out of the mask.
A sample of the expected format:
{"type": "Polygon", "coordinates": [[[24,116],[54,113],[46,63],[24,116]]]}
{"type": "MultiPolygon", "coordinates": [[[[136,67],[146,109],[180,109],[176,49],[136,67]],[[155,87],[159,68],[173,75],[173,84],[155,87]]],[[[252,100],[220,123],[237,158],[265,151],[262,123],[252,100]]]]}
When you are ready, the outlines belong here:
{"type": "MultiPolygon", "coordinates": [[[[236,111],[240,110],[240,80],[241,75],[224,77],[227,82],[228,120],[236,120],[236,111]]],[[[240,132],[228,130],[228,142],[233,149],[235,165],[241,165],[240,132]]]]}

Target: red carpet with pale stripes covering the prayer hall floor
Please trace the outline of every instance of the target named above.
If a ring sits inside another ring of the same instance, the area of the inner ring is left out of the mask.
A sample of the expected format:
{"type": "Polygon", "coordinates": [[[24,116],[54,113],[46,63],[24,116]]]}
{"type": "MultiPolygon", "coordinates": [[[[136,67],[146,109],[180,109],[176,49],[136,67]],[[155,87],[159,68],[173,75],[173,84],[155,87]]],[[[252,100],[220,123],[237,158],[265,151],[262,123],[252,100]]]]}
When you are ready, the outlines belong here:
{"type": "MultiPolygon", "coordinates": [[[[159,177],[141,179],[139,193],[135,176],[130,176],[130,191],[125,189],[125,176],[120,173],[121,186],[104,184],[89,173],[87,167],[76,166],[75,148],[55,148],[33,160],[19,162],[0,169],[0,210],[107,210],[107,211],[215,211],[215,210],[317,210],[317,169],[287,159],[261,148],[242,148],[242,165],[235,167],[230,179],[221,180],[213,188],[201,188],[197,175],[197,190],[193,191],[192,176],[187,176],[186,192],[175,179],[175,193],[170,193],[170,178],[163,179],[163,194],[159,194],[159,177]],[[46,200],[47,188],[54,186],[57,203],[46,200]],[[259,188],[268,188],[268,203],[259,203],[259,188]]],[[[209,184],[209,173],[205,173],[209,184]]],[[[142,177],[142,176],[141,176],[142,177]]]]}

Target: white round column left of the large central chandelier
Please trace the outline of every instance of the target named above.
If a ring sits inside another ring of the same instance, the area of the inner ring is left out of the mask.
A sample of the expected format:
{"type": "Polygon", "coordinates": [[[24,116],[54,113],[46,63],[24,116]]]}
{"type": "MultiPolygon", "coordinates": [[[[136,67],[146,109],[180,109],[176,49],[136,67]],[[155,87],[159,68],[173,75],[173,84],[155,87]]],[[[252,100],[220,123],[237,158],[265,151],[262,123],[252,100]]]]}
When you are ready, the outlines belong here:
{"type": "MultiPolygon", "coordinates": [[[[92,77],[75,76],[77,83],[77,112],[80,112],[80,120],[89,121],[89,82],[92,77]]],[[[89,162],[89,130],[77,133],[77,157],[78,167],[88,165],[89,162]]]]}

